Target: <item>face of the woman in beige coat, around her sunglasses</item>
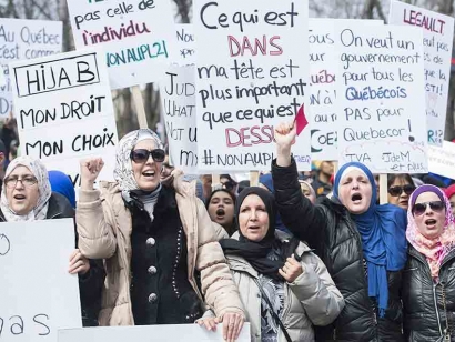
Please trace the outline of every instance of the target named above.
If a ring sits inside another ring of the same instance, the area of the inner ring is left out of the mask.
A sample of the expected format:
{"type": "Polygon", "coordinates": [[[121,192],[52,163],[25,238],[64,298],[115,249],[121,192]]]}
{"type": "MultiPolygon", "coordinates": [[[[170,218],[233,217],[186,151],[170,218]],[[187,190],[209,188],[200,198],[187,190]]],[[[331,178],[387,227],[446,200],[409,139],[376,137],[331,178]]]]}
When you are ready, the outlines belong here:
{"type": "MultiPolygon", "coordinates": [[[[156,149],[156,145],[153,140],[146,139],[140,141],[134,147],[134,150],[139,149],[152,151],[156,149]]],[[[162,162],[155,162],[152,155],[150,155],[149,159],[143,163],[136,163],[134,160],[131,160],[131,165],[139,189],[145,191],[153,191],[156,189],[158,184],[160,183],[162,162]]]]}

